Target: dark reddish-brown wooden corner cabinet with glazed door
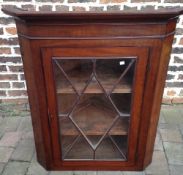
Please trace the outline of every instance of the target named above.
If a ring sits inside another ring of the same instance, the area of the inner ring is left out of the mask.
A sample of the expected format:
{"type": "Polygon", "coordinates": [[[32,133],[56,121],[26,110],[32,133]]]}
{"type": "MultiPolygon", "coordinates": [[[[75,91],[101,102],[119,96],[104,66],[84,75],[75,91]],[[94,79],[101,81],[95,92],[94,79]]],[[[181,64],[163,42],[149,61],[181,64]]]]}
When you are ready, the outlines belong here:
{"type": "Polygon", "coordinates": [[[37,158],[49,170],[143,170],[182,9],[15,17],[37,158]]]}

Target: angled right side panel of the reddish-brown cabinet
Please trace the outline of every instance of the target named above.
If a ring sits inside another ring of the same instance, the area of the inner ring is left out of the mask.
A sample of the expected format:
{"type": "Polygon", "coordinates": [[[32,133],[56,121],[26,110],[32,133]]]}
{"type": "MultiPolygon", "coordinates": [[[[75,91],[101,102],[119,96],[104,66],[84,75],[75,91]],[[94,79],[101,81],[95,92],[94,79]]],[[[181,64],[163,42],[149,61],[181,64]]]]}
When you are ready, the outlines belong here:
{"type": "Polygon", "coordinates": [[[158,67],[158,74],[157,74],[157,79],[155,84],[152,112],[151,112],[150,122],[149,122],[144,166],[147,166],[152,160],[154,142],[156,138],[156,131],[157,131],[157,125],[158,125],[160,108],[161,108],[161,101],[163,96],[163,90],[164,90],[164,85],[166,80],[166,73],[167,73],[168,64],[169,64],[169,57],[171,53],[173,38],[174,38],[173,36],[169,36],[165,38],[163,41],[159,67],[158,67]]]}

